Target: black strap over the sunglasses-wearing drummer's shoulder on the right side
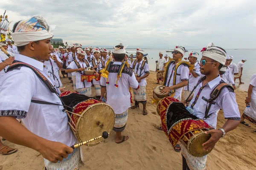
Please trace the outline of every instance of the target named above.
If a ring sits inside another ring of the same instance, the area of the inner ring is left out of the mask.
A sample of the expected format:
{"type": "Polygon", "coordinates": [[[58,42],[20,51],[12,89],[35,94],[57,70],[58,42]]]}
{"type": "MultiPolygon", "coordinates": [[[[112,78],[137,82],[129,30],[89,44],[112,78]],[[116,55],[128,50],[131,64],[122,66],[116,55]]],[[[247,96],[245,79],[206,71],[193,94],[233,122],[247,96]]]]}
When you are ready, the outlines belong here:
{"type": "Polygon", "coordinates": [[[208,115],[210,108],[212,106],[212,102],[213,102],[213,100],[217,99],[217,97],[221,94],[222,89],[224,89],[225,87],[230,88],[232,91],[234,91],[233,87],[231,87],[230,85],[228,85],[221,79],[219,84],[212,90],[210,99],[208,99],[208,101],[207,101],[209,103],[209,105],[208,105],[208,107],[206,106],[206,110],[204,113],[204,120],[209,118],[212,115],[212,113],[208,115]]]}

